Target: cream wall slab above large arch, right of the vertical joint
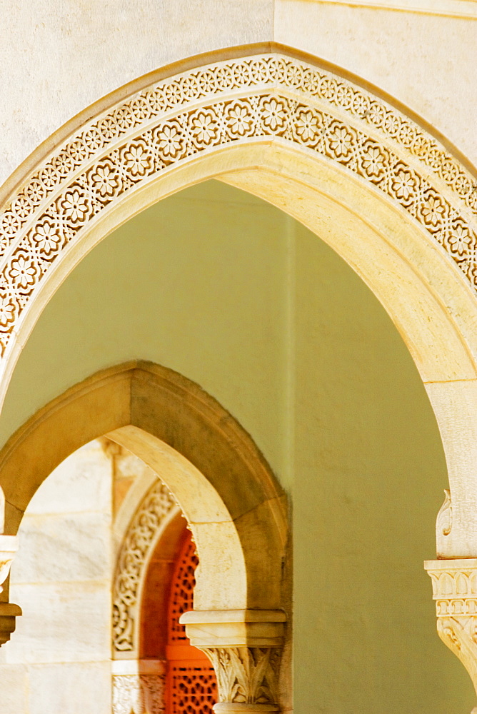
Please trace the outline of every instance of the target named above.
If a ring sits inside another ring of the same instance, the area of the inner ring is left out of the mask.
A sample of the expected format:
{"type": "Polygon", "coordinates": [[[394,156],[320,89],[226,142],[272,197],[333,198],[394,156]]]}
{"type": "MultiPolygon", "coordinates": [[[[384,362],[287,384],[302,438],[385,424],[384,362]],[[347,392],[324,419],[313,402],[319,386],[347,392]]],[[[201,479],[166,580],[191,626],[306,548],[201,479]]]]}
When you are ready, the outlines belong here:
{"type": "MultiPolygon", "coordinates": [[[[350,6],[353,3],[276,0],[273,39],[387,92],[428,121],[475,166],[475,8],[471,6],[470,20],[438,16],[437,3],[431,0],[429,13],[416,14],[350,6]]],[[[403,9],[399,0],[395,5],[403,9]]]]}

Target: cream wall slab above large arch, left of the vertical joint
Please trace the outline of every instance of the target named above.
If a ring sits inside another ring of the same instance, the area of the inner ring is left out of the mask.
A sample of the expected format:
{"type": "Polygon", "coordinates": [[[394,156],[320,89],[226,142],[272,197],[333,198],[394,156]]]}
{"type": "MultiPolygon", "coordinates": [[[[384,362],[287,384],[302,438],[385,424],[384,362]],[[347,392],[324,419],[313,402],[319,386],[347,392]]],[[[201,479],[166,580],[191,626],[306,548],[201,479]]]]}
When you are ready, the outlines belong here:
{"type": "Polygon", "coordinates": [[[234,0],[227,11],[216,0],[201,0],[199,23],[184,0],[135,0],[120,8],[109,0],[98,9],[95,1],[72,0],[61,7],[52,0],[30,9],[10,0],[4,6],[1,65],[11,71],[2,72],[8,101],[1,103],[0,135],[11,141],[1,144],[0,181],[64,122],[126,82],[184,57],[273,36],[271,0],[234,0]],[[26,76],[29,108],[21,81],[26,76]]]}

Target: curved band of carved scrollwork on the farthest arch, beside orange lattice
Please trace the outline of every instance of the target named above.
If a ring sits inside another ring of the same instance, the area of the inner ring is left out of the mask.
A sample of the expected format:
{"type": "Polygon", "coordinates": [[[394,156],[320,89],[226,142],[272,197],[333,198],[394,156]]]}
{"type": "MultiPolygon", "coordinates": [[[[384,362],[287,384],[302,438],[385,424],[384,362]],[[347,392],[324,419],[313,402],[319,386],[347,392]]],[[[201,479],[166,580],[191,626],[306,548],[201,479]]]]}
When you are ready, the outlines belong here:
{"type": "MultiPolygon", "coordinates": [[[[157,481],[131,520],[119,553],[113,586],[113,650],[134,650],[134,623],[144,565],[161,521],[176,503],[164,483],[157,481]]],[[[129,714],[129,713],[128,713],[129,714]]]]}

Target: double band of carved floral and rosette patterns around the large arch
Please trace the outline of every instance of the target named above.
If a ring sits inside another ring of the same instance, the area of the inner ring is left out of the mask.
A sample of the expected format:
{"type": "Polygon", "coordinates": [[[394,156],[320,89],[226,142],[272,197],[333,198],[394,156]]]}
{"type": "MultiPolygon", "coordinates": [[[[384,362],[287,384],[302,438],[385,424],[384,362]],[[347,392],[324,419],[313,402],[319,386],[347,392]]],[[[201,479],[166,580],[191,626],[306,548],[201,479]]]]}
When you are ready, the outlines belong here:
{"type": "Polygon", "coordinates": [[[35,290],[88,222],[207,149],[278,137],[371,183],[426,228],[477,289],[477,185],[418,124],[350,81],[281,54],[186,71],[96,116],[0,214],[2,354],[35,290]]]}

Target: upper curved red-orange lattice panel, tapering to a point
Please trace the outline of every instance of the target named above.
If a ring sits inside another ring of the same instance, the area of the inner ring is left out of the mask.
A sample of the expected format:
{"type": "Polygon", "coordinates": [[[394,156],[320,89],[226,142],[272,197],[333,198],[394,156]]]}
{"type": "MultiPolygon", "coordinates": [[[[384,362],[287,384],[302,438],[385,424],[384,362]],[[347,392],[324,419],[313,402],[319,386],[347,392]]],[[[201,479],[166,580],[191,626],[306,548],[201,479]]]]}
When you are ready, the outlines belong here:
{"type": "Polygon", "coordinates": [[[183,613],[194,610],[194,588],[196,586],[194,572],[197,565],[199,565],[199,558],[196,553],[196,545],[188,531],[188,536],[177,558],[172,577],[167,620],[169,644],[189,642],[185,625],[179,624],[179,618],[183,613]]]}

